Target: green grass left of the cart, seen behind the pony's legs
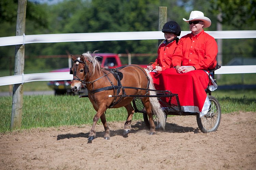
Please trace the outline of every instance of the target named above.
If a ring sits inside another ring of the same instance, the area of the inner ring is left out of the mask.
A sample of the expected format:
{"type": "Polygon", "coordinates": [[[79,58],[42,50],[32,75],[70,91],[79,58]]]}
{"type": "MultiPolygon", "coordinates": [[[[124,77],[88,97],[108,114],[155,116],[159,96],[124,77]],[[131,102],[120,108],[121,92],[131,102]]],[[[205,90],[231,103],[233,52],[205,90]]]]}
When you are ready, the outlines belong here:
{"type": "MultiPolygon", "coordinates": [[[[8,132],[11,123],[12,97],[0,97],[0,133],[8,132]]],[[[61,125],[91,124],[96,111],[88,98],[78,96],[24,96],[21,129],[53,127],[61,125]]],[[[125,121],[124,107],[108,109],[107,121],[125,121]]],[[[134,114],[133,120],[143,119],[134,114]]],[[[101,123],[99,120],[98,123],[101,123]]]]}

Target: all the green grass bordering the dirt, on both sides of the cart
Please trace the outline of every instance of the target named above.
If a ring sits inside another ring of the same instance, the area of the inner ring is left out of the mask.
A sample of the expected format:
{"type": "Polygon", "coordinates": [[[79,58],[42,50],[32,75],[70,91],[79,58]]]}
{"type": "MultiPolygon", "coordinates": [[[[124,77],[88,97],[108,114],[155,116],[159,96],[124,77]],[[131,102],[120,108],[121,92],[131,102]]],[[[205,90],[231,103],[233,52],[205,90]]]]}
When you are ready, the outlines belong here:
{"type": "MultiPolygon", "coordinates": [[[[216,90],[212,93],[221,104],[222,113],[256,112],[256,90],[216,90]]],[[[12,97],[0,97],[0,133],[10,131],[12,97]]],[[[21,129],[58,127],[62,125],[92,124],[96,114],[88,98],[78,96],[24,96],[21,129]]],[[[124,107],[108,109],[107,121],[123,121],[127,118],[124,107]]],[[[133,120],[143,120],[136,113],[133,120]]],[[[98,123],[101,123],[99,121],[98,123]]]]}

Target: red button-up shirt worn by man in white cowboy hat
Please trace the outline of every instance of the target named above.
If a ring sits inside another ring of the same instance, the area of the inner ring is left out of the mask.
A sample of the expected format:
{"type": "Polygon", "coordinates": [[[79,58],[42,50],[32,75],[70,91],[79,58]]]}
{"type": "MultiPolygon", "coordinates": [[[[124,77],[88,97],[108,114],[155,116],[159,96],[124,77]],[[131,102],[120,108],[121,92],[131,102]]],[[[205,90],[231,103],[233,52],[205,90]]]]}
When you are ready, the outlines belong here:
{"type": "Polygon", "coordinates": [[[198,69],[216,67],[218,46],[215,39],[204,30],[199,34],[183,36],[172,56],[173,66],[194,66],[198,69]]]}

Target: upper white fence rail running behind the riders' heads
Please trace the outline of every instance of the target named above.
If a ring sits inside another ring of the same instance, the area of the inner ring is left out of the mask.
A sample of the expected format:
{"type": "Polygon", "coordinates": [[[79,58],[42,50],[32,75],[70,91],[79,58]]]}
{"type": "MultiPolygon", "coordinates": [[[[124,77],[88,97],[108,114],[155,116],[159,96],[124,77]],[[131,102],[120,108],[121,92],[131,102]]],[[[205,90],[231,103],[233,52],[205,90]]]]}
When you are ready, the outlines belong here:
{"type": "MultiPolygon", "coordinates": [[[[182,31],[184,36],[191,31],[182,31]]],[[[247,31],[205,31],[215,39],[230,38],[256,38],[255,30],[247,31]]],[[[1,37],[0,46],[11,46],[30,43],[60,43],[78,41],[116,41],[116,40],[148,40],[163,39],[161,31],[144,32],[105,32],[105,33],[74,33],[74,34],[40,34],[40,35],[20,35],[11,37],[1,37]]]]}

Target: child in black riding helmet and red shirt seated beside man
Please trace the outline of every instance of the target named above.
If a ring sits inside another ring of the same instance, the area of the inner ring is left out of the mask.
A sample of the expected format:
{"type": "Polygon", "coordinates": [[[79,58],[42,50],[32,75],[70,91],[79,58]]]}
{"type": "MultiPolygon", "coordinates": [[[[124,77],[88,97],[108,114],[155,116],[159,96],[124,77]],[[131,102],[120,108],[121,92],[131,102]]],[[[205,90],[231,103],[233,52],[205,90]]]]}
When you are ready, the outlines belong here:
{"type": "Polygon", "coordinates": [[[148,70],[154,70],[150,74],[157,90],[164,90],[164,87],[160,83],[160,73],[167,68],[173,67],[171,57],[177,47],[179,41],[178,36],[181,35],[181,27],[177,22],[169,21],[164,24],[162,32],[165,34],[165,40],[158,47],[156,61],[152,65],[147,66],[148,70]]]}

